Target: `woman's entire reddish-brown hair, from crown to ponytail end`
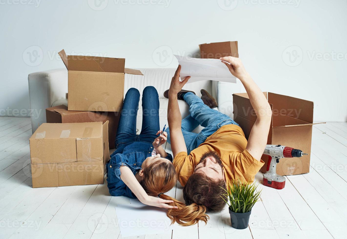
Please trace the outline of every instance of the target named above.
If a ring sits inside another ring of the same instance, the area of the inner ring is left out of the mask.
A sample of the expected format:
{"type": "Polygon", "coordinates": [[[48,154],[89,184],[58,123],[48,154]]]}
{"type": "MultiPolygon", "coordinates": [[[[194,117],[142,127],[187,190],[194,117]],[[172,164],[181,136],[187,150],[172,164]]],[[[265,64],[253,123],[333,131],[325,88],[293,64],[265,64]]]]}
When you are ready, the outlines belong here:
{"type": "Polygon", "coordinates": [[[166,193],[176,185],[177,173],[174,165],[169,162],[153,163],[150,167],[143,170],[143,179],[141,186],[150,196],[159,197],[164,200],[172,200],[168,203],[171,206],[177,206],[178,209],[168,209],[167,216],[171,222],[177,222],[183,226],[189,226],[197,223],[199,220],[207,223],[209,216],[205,214],[206,207],[195,203],[186,206],[183,202],[176,200],[166,193]]]}

